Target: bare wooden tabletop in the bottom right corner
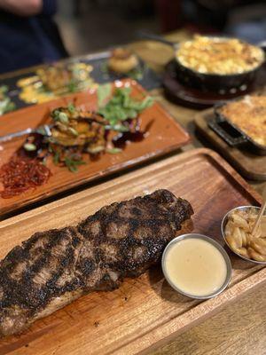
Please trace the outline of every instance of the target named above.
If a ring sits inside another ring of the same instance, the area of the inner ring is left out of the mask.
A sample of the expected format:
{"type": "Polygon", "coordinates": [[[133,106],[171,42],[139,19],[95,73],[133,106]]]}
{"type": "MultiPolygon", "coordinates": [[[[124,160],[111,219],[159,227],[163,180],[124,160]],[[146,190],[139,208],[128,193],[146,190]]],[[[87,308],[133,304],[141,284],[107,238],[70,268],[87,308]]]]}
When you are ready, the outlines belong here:
{"type": "Polygon", "coordinates": [[[264,355],[266,284],[229,304],[151,355],[264,355]]]}

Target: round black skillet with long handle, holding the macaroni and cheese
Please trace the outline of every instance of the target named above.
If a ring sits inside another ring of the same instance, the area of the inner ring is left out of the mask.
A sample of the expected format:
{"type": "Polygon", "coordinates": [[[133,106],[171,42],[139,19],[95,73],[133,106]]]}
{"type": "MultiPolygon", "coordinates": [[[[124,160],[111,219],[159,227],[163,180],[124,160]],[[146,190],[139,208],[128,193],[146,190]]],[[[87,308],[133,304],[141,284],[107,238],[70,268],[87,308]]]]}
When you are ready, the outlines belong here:
{"type": "MultiPolygon", "coordinates": [[[[139,33],[139,36],[141,36],[142,38],[152,39],[153,41],[158,41],[161,43],[168,44],[174,49],[175,54],[179,48],[179,43],[174,43],[165,40],[160,36],[155,36],[146,33],[139,33]]],[[[218,37],[224,39],[229,38],[223,36],[208,36],[208,37],[210,38],[218,37]]],[[[258,43],[257,46],[260,47],[262,50],[264,50],[264,48],[266,47],[266,42],[258,43]]],[[[241,74],[215,75],[215,74],[200,73],[196,70],[192,70],[191,68],[184,67],[180,63],[180,61],[176,58],[176,76],[181,83],[184,83],[185,85],[190,86],[194,89],[200,89],[201,91],[215,91],[220,94],[237,93],[239,91],[240,94],[241,91],[246,91],[246,89],[252,83],[254,83],[254,79],[256,78],[256,75],[258,74],[264,62],[265,59],[264,61],[262,61],[261,64],[258,65],[258,67],[255,67],[253,70],[241,74]]]]}

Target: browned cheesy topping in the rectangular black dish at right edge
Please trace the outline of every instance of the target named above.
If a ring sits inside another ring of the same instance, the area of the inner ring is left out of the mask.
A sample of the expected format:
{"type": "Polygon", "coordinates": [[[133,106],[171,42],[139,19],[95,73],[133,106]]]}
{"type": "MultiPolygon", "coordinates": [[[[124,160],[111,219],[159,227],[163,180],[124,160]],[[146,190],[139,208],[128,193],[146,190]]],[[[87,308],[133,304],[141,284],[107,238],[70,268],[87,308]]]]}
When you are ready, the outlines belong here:
{"type": "Polygon", "coordinates": [[[217,110],[247,136],[266,146],[266,95],[246,95],[217,110]]]}

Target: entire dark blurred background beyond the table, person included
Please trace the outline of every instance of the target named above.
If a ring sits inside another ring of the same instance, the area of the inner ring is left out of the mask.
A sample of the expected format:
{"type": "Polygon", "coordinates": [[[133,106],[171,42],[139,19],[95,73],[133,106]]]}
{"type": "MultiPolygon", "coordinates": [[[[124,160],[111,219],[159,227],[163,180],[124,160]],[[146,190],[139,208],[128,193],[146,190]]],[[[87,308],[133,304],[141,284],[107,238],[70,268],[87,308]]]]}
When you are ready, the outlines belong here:
{"type": "Polygon", "coordinates": [[[129,43],[137,31],[266,39],[265,0],[0,0],[0,72],[129,43]]]}

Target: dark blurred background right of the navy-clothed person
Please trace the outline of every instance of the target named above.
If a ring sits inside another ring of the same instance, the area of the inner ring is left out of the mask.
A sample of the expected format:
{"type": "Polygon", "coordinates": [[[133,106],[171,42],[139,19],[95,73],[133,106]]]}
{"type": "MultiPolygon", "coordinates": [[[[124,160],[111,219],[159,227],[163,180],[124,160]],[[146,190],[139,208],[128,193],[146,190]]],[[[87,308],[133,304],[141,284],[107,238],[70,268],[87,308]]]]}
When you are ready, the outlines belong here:
{"type": "Polygon", "coordinates": [[[129,43],[137,30],[162,34],[186,28],[254,43],[266,39],[265,0],[59,0],[56,20],[74,55],[129,43]]]}

